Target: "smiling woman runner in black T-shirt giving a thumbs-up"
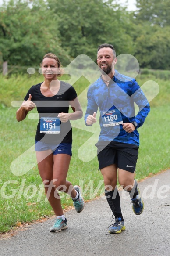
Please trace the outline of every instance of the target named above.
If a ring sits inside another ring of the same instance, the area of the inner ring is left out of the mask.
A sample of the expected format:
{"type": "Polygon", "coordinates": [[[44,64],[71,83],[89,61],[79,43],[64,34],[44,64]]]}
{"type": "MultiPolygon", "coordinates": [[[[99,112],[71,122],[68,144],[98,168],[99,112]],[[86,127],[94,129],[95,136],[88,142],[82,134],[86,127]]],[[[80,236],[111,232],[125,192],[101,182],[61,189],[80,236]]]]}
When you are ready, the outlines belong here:
{"type": "Polygon", "coordinates": [[[73,187],[66,180],[71,160],[72,130],[70,120],[83,115],[74,88],[57,78],[61,76],[61,64],[57,56],[48,53],[40,64],[44,81],[33,85],[26,94],[16,119],[22,121],[29,111],[37,107],[39,123],[35,135],[35,151],[39,174],[43,180],[46,197],[57,218],[50,232],[67,228],[67,219],[61,207],[58,191],[71,195],[75,210],[80,213],[85,206],[81,188],[73,187]],[[69,113],[69,105],[73,112],[69,113]]]}

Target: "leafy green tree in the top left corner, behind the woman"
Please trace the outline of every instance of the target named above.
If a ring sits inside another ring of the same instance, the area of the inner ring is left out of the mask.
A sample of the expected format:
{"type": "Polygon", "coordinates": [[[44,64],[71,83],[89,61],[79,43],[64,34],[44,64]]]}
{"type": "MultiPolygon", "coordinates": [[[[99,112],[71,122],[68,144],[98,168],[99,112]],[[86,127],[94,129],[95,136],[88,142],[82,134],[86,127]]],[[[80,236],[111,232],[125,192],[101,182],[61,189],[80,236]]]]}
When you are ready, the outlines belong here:
{"type": "Polygon", "coordinates": [[[10,0],[0,10],[0,51],[11,65],[39,65],[44,54],[53,52],[69,63],[60,47],[57,15],[43,0],[10,0]],[[55,24],[55,25],[51,25],[55,24]]]}

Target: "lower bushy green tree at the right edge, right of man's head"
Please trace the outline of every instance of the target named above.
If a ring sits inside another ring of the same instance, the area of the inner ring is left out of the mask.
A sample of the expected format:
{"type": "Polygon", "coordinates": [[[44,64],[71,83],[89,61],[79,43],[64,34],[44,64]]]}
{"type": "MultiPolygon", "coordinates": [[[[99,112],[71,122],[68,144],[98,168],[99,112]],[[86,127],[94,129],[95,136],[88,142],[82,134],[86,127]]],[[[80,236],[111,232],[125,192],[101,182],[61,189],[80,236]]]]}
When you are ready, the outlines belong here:
{"type": "Polygon", "coordinates": [[[170,27],[138,26],[135,57],[140,67],[170,69],[170,27]]]}

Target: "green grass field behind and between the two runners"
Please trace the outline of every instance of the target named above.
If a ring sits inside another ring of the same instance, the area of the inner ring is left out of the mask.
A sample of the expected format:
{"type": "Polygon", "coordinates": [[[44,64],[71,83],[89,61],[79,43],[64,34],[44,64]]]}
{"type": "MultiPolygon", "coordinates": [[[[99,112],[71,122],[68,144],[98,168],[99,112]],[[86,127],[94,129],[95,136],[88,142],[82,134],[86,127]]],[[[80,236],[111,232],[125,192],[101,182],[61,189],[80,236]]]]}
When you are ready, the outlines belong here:
{"type": "MultiPolygon", "coordinates": [[[[22,176],[15,176],[10,169],[11,162],[34,144],[37,126],[37,120],[30,120],[28,117],[18,123],[15,119],[17,108],[11,107],[11,101],[22,101],[28,89],[33,84],[39,83],[42,78],[26,75],[9,78],[1,76],[0,78],[0,232],[7,232],[15,226],[17,221],[31,222],[41,216],[51,216],[54,213],[50,204],[46,202],[37,166],[22,176]],[[12,180],[13,183],[5,187],[6,182],[12,180]],[[32,196],[33,192],[35,192],[34,196],[32,196]]],[[[148,75],[147,77],[142,75],[138,76],[137,81],[142,85],[148,79],[148,75]]],[[[139,180],[147,177],[149,173],[155,174],[170,167],[169,81],[153,76],[150,79],[159,84],[160,92],[151,101],[151,112],[144,126],[138,130],[140,149],[136,179],[139,180]]],[[[74,84],[74,87],[78,94],[81,94],[88,85],[89,82],[81,78],[74,84]]],[[[86,92],[81,94],[80,102],[85,112],[86,92]]],[[[34,112],[36,113],[36,110],[34,112]]],[[[67,179],[73,184],[81,183],[85,200],[89,200],[103,193],[103,177],[98,171],[97,157],[89,162],[83,162],[78,158],[78,149],[93,134],[93,128],[89,129],[91,132],[82,130],[83,125],[84,121],[81,119],[80,123],[75,126],[76,128],[73,127],[73,157],[67,179]],[[95,191],[98,184],[100,184],[99,190],[95,191]]],[[[89,146],[89,150],[96,150],[94,144],[89,146]]],[[[28,155],[29,158],[32,159],[32,155],[28,155]]],[[[61,195],[64,196],[63,207],[72,205],[72,200],[67,195],[61,195]]]]}

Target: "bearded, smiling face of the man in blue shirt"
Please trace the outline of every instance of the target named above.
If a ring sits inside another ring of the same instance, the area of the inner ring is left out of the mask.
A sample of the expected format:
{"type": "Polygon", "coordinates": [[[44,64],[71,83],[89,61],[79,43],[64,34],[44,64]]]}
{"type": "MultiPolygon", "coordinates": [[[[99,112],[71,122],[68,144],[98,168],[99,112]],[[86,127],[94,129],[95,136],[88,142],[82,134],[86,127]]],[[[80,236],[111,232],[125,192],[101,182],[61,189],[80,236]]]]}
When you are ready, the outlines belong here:
{"type": "Polygon", "coordinates": [[[103,70],[103,74],[106,73],[108,75],[116,62],[117,58],[114,58],[113,50],[110,47],[104,47],[98,51],[97,64],[103,70]]]}

